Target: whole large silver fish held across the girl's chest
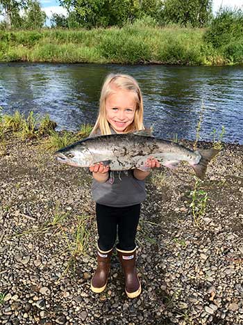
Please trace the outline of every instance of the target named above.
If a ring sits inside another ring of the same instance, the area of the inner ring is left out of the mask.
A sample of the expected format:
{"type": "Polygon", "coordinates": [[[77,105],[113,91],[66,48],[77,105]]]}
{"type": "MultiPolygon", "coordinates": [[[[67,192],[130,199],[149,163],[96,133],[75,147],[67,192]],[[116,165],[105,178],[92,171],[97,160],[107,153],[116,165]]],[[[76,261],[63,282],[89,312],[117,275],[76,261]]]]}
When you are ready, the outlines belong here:
{"type": "Polygon", "coordinates": [[[210,160],[220,150],[190,150],[173,141],[144,135],[144,131],[129,134],[109,134],[85,138],[55,152],[57,160],[76,167],[90,167],[102,162],[110,171],[145,170],[146,160],[153,157],[161,166],[176,168],[187,161],[201,180],[210,160]]]}

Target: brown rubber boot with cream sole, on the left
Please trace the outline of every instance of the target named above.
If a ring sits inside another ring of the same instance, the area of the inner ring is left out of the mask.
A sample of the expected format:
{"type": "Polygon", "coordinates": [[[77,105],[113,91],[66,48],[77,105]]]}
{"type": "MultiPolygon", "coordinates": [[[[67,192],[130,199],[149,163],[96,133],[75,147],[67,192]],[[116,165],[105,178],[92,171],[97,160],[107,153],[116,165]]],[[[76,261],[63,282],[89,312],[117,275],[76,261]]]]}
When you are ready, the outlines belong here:
{"type": "Polygon", "coordinates": [[[97,251],[97,262],[98,267],[94,272],[94,276],[91,280],[92,292],[100,293],[106,289],[108,276],[110,273],[110,257],[112,255],[112,249],[104,252],[98,248],[97,251]]]}

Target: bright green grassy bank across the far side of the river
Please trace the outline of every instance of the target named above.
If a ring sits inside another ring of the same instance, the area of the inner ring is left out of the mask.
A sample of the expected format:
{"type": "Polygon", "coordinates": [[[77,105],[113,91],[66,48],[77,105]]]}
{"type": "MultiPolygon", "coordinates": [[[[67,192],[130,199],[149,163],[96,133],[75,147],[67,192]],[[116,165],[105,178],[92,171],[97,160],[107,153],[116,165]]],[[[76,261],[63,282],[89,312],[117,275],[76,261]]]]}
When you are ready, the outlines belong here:
{"type": "Polygon", "coordinates": [[[234,65],[240,43],[225,51],[204,40],[206,29],[128,25],[122,29],[2,31],[0,62],[234,65]]]}

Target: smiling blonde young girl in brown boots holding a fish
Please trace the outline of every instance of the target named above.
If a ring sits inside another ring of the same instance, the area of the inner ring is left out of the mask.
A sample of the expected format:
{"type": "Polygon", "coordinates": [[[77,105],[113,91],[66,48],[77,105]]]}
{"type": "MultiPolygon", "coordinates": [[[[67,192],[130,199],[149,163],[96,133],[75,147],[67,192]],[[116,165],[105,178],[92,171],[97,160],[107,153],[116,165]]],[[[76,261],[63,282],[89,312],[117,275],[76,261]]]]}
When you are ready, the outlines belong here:
{"type": "MultiPolygon", "coordinates": [[[[126,74],[109,74],[103,84],[99,116],[90,136],[128,133],[144,129],[143,102],[137,81],[126,74]]],[[[140,219],[140,204],[146,197],[144,179],[149,169],[159,167],[153,157],[146,161],[144,170],[110,172],[102,163],[90,166],[94,177],[92,195],[96,202],[99,233],[98,267],[91,281],[93,292],[103,292],[110,273],[110,256],[116,246],[125,277],[125,291],[129,298],[141,293],[135,269],[135,235],[140,219]]]]}

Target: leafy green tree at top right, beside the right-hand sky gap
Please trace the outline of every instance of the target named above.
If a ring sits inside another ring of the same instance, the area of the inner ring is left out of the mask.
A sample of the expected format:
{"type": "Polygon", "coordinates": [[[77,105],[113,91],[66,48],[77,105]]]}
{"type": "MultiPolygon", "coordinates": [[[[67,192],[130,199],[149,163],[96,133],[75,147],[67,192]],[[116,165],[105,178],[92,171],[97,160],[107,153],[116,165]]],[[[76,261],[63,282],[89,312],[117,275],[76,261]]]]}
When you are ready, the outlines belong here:
{"type": "Polygon", "coordinates": [[[212,0],[165,0],[162,21],[193,27],[207,24],[212,15],[212,0]]]}

